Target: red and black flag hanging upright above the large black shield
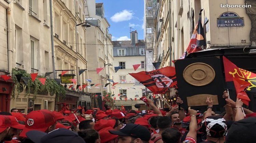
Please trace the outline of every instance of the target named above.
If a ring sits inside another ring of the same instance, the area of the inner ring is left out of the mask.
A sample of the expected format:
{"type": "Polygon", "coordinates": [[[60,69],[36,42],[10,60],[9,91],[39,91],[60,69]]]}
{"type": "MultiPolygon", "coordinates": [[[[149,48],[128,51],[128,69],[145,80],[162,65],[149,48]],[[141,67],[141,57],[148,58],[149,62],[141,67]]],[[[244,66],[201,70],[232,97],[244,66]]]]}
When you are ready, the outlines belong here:
{"type": "Polygon", "coordinates": [[[203,11],[203,9],[199,13],[198,23],[195,27],[193,35],[188,44],[188,47],[187,47],[186,51],[182,54],[180,59],[186,58],[186,56],[190,53],[201,51],[202,50],[201,47],[206,46],[204,32],[203,32],[203,26],[202,26],[202,22],[201,22],[201,12],[202,11],[203,11]]]}

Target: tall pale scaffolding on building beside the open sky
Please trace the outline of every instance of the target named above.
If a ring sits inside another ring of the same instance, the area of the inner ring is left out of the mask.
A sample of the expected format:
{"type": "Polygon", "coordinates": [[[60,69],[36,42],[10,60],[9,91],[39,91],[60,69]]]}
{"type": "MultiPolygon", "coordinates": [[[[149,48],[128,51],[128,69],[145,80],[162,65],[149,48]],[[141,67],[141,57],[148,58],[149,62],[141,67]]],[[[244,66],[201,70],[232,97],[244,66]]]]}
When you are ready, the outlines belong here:
{"type": "Polygon", "coordinates": [[[155,30],[154,23],[157,17],[157,0],[144,0],[144,36],[145,36],[145,63],[146,71],[154,70],[153,62],[153,49],[155,30]]]}

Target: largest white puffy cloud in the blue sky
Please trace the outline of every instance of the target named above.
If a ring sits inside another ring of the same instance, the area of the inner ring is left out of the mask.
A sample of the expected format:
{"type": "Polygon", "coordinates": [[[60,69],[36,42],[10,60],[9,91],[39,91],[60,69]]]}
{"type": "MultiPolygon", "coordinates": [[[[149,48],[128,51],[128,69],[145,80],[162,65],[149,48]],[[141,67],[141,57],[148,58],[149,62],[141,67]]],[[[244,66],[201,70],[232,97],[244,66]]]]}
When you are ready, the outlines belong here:
{"type": "Polygon", "coordinates": [[[121,12],[115,13],[110,19],[114,22],[131,20],[133,17],[132,11],[123,10],[121,12]]]}

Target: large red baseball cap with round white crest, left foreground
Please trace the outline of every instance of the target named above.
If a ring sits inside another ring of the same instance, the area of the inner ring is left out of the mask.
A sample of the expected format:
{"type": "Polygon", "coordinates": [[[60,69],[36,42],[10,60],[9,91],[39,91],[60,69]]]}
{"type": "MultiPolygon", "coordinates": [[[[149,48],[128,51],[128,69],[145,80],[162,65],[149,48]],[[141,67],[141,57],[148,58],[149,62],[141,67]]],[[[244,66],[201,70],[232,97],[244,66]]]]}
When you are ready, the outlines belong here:
{"type": "Polygon", "coordinates": [[[31,111],[26,116],[25,128],[20,133],[20,137],[27,137],[26,133],[31,130],[39,130],[45,132],[49,126],[56,123],[54,114],[47,110],[31,111]]]}

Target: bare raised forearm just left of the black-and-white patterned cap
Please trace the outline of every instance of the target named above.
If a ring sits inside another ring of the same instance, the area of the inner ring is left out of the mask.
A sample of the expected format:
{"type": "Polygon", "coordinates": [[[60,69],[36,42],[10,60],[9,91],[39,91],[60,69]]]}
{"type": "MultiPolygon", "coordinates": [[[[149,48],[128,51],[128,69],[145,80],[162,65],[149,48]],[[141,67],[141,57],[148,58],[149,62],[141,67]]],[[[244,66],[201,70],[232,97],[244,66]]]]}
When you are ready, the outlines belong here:
{"type": "Polygon", "coordinates": [[[190,137],[196,141],[196,139],[197,139],[197,118],[196,118],[197,111],[188,107],[188,113],[190,114],[191,120],[189,123],[189,132],[188,132],[186,138],[190,137]]]}

